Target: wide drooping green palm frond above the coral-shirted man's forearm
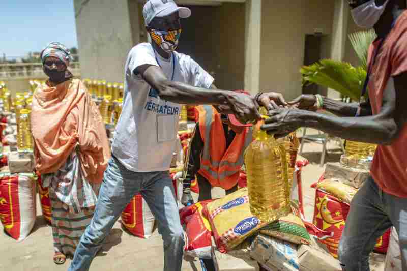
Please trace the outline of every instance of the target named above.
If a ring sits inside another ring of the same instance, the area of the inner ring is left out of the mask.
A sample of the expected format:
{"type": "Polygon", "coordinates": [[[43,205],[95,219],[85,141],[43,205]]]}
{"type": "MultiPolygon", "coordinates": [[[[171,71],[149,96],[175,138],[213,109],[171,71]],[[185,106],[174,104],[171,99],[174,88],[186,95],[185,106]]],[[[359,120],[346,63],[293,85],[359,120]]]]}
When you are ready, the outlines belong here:
{"type": "Polygon", "coordinates": [[[338,91],[343,96],[359,101],[366,70],[355,68],[346,62],[323,59],[311,66],[301,68],[303,84],[314,83],[338,91]]]}

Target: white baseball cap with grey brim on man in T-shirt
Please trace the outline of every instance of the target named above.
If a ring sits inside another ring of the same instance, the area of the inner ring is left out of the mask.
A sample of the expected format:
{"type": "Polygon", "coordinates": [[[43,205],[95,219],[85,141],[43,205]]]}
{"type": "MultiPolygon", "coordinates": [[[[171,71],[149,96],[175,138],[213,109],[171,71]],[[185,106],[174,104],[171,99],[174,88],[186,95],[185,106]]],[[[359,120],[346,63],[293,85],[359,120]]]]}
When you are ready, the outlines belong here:
{"type": "Polygon", "coordinates": [[[178,7],[173,0],[148,0],[143,7],[144,22],[146,22],[146,26],[148,26],[155,17],[165,17],[177,11],[180,18],[188,18],[191,16],[190,9],[178,7]]]}

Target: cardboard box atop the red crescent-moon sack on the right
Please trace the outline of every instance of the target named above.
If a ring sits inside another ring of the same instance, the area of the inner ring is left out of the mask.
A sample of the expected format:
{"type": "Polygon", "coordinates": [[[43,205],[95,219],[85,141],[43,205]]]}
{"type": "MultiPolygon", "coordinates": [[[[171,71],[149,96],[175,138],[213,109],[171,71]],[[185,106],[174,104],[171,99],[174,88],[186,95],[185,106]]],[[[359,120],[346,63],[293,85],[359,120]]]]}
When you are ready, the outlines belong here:
{"type": "Polygon", "coordinates": [[[327,163],[324,177],[326,179],[336,179],[354,188],[360,188],[369,178],[369,171],[342,165],[341,163],[327,163]]]}

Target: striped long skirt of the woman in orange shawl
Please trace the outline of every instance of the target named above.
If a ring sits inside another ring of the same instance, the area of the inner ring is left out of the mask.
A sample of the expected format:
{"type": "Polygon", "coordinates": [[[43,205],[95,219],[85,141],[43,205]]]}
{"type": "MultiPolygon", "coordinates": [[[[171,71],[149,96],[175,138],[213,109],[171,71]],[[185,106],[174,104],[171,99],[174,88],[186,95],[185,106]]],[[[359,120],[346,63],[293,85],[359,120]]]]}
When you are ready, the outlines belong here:
{"type": "Polygon", "coordinates": [[[52,213],[52,236],[55,252],[73,256],[80,237],[91,223],[95,206],[82,208],[79,213],[69,212],[53,189],[49,189],[52,213]]]}

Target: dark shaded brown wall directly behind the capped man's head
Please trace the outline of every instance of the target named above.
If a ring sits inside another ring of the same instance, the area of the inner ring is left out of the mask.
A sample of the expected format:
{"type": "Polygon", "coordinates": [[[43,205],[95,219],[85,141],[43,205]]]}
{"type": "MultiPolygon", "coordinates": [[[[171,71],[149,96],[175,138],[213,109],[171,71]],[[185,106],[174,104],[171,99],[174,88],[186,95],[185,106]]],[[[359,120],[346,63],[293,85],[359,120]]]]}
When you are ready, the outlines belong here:
{"type": "MultiPolygon", "coordinates": [[[[190,55],[211,73],[218,88],[244,88],[245,4],[183,6],[191,9],[192,16],[181,19],[183,32],[177,51],[190,55]],[[238,19],[231,20],[230,14],[238,19]]],[[[139,4],[139,40],[146,42],[148,34],[142,18],[142,7],[139,4]]],[[[130,17],[133,14],[131,12],[130,17]]]]}

